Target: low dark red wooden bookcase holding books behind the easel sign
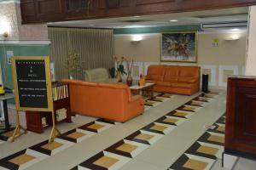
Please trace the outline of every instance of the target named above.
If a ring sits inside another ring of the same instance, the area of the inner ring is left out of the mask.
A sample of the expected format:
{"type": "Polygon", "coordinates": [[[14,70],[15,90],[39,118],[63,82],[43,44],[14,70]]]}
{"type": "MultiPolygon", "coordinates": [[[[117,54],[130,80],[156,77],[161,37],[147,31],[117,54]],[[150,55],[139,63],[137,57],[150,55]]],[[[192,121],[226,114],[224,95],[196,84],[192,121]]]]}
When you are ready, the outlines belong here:
{"type": "MultiPolygon", "coordinates": [[[[70,111],[70,98],[68,95],[68,85],[67,84],[57,84],[53,86],[53,106],[55,113],[55,123],[58,122],[72,122],[71,121],[71,111],[70,111]],[[66,88],[61,88],[66,87],[66,88]],[[58,88],[58,90],[55,90],[58,88]],[[66,117],[59,120],[57,116],[58,111],[66,111],[66,117]]],[[[52,113],[45,111],[26,111],[26,128],[29,131],[35,133],[43,133],[45,127],[52,126],[52,113]],[[46,126],[42,120],[45,120],[46,126]]]]}

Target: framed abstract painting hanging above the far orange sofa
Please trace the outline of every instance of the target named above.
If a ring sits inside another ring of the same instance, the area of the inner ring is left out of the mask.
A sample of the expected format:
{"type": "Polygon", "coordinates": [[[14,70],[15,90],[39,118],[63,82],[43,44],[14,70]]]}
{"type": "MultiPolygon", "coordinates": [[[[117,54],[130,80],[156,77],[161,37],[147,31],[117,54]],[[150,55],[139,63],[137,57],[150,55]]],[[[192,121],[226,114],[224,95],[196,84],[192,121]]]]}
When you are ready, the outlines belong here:
{"type": "Polygon", "coordinates": [[[197,62],[197,32],[162,33],[160,60],[197,62]]]}

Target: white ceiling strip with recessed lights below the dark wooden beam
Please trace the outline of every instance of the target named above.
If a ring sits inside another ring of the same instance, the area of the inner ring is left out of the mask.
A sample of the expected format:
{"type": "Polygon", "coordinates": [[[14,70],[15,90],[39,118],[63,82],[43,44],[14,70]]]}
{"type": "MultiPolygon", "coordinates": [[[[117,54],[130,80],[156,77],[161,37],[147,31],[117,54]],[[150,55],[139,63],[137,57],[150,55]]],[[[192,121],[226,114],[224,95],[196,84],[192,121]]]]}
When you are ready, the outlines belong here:
{"type": "Polygon", "coordinates": [[[248,8],[226,8],[174,14],[154,14],[97,20],[73,20],[48,23],[48,26],[91,28],[186,26],[209,22],[247,20],[247,13],[248,8]],[[170,20],[177,20],[177,22],[171,22],[170,20]]]}

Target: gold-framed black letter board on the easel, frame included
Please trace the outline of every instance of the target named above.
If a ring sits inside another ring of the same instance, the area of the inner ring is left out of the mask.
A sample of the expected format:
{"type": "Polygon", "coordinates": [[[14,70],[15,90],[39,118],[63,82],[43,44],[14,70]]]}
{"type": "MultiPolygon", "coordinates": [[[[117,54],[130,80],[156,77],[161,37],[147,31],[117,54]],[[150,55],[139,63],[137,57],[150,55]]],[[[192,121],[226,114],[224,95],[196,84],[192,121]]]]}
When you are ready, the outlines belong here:
{"type": "Polygon", "coordinates": [[[17,111],[53,111],[49,57],[13,57],[17,111]]]}

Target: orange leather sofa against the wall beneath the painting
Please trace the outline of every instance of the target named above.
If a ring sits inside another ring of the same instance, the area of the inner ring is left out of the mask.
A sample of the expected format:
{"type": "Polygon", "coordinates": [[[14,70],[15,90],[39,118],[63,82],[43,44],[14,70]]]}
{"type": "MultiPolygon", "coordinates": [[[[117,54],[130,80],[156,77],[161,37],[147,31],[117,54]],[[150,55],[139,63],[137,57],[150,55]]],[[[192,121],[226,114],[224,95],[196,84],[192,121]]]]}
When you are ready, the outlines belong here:
{"type": "Polygon", "coordinates": [[[195,94],[200,89],[200,67],[149,65],[146,82],[155,83],[155,92],[195,94]]]}

